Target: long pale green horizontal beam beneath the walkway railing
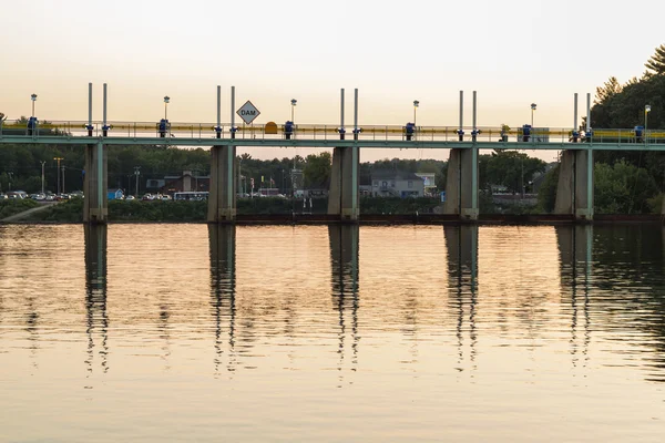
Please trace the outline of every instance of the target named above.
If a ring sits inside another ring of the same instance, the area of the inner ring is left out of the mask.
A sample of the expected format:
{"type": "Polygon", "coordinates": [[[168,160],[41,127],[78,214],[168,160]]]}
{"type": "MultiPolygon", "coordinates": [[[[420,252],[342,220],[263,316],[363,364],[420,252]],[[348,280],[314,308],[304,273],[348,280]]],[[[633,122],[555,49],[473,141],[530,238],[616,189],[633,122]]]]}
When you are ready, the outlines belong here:
{"type": "Polygon", "coordinates": [[[367,148],[415,148],[415,150],[594,150],[594,151],[665,151],[665,143],[519,143],[519,142],[457,142],[457,141],[372,141],[372,140],[258,140],[258,138],[191,138],[191,137],[76,137],[76,136],[2,136],[1,144],[61,144],[88,145],[103,143],[109,146],[226,146],[238,147],[367,147],[367,148]]]}

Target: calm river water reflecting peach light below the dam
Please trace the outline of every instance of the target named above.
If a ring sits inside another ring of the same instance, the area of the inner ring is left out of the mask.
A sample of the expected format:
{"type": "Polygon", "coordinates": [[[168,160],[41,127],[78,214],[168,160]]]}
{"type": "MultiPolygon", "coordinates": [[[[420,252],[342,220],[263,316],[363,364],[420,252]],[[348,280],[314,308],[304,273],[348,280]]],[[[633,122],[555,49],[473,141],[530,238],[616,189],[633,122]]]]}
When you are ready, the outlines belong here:
{"type": "Polygon", "coordinates": [[[662,442],[664,243],[0,226],[0,441],[662,442]]]}

